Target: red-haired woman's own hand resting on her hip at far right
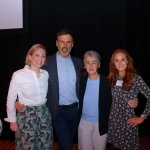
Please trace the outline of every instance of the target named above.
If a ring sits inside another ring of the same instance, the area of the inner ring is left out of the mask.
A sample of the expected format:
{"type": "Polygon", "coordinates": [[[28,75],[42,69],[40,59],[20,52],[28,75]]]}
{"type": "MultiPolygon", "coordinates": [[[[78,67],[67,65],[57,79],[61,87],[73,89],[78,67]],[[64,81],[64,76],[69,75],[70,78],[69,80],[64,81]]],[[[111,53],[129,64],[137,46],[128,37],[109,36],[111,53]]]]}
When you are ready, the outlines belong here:
{"type": "Polygon", "coordinates": [[[127,124],[129,126],[135,127],[138,124],[141,124],[145,119],[143,117],[134,117],[134,118],[130,118],[127,121],[127,124]]]}

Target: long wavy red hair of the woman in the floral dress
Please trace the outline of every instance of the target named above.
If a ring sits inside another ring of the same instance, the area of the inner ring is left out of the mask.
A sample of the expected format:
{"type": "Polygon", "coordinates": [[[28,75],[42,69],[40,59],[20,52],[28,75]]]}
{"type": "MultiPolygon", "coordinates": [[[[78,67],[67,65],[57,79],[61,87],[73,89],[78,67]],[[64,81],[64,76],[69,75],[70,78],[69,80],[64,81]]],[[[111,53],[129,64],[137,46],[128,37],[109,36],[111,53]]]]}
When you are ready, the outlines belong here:
{"type": "Polygon", "coordinates": [[[114,64],[114,57],[117,53],[123,53],[126,55],[128,64],[127,64],[127,68],[125,70],[125,75],[123,77],[123,84],[122,84],[122,88],[123,90],[129,91],[132,86],[134,85],[133,83],[133,77],[137,74],[137,71],[134,68],[134,62],[133,59],[130,57],[130,55],[128,54],[128,52],[124,49],[116,49],[114,51],[114,53],[112,54],[110,63],[109,63],[109,70],[110,73],[107,76],[107,80],[110,83],[110,87],[113,88],[116,84],[117,81],[117,77],[118,77],[118,71],[115,67],[114,64]]]}

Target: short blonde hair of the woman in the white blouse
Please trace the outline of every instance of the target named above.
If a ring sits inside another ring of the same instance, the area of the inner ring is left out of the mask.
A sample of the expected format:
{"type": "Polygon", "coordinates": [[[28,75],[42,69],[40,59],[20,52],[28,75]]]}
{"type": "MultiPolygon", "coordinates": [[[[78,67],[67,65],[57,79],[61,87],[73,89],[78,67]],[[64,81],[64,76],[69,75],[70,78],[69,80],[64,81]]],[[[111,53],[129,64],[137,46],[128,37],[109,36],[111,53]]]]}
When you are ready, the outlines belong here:
{"type": "Polygon", "coordinates": [[[46,52],[46,48],[45,48],[43,45],[41,45],[41,44],[35,44],[35,45],[33,45],[33,46],[29,49],[29,51],[28,51],[28,53],[27,53],[27,55],[26,55],[26,59],[25,59],[25,64],[26,64],[26,65],[31,66],[31,61],[30,61],[30,59],[29,59],[29,56],[32,56],[32,54],[33,54],[37,49],[39,49],[39,48],[45,50],[45,52],[46,52]]]}

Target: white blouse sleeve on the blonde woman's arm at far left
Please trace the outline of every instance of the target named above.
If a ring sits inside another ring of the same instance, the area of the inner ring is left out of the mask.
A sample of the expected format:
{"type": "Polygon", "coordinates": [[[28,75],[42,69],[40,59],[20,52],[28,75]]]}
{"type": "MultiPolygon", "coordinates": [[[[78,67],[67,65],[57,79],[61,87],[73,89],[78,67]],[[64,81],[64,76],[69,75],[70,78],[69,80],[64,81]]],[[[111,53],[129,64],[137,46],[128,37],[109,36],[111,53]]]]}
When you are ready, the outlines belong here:
{"type": "Polygon", "coordinates": [[[18,94],[18,77],[17,74],[14,73],[12,75],[12,79],[10,81],[8,95],[7,95],[7,118],[4,120],[7,122],[16,122],[16,108],[15,108],[15,102],[17,99],[18,94]]]}

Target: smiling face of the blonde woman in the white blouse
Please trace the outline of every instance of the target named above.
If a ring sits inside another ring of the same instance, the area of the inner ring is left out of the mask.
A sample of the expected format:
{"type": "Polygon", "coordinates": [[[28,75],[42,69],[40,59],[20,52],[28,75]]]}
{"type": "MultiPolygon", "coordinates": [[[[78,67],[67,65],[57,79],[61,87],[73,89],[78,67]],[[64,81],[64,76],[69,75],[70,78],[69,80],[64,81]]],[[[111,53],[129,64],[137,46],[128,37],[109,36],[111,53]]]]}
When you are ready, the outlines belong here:
{"type": "Polygon", "coordinates": [[[32,55],[29,55],[31,68],[33,70],[40,69],[46,61],[46,51],[42,48],[37,48],[32,55]]]}

